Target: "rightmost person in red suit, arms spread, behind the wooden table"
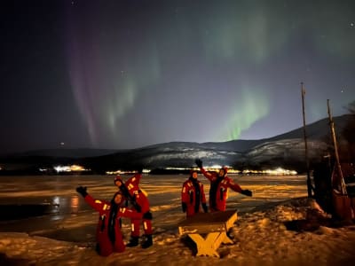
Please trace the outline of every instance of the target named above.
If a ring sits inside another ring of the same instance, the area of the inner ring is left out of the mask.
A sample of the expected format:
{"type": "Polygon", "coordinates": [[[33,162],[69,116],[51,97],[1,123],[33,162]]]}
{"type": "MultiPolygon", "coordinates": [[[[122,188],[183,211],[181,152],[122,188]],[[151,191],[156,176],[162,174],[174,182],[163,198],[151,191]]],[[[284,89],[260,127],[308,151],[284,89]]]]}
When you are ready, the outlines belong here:
{"type": "Polygon", "coordinates": [[[226,176],[227,168],[220,168],[218,173],[208,172],[202,167],[202,160],[196,159],[195,162],[200,168],[203,176],[209,179],[210,182],[209,210],[211,212],[225,211],[228,188],[231,188],[234,192],[240,192],[248,197],[252,196],[251,191],[242,190],[239,184],[234,183],[231,178],[226,176]]]}

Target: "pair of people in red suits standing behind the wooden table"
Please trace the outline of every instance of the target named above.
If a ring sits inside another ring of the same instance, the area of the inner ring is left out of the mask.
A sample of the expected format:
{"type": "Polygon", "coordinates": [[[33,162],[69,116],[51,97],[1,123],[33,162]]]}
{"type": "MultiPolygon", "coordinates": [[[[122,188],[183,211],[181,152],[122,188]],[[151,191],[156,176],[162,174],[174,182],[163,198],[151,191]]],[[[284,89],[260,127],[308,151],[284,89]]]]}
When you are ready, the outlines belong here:
{"type": "Polygon", "coordinates": [[[186,217],[191,217],[201,212],[201,207],[205,213],[225,211],[226,200],[228,195],[228,188],[231,188],[234,192],[240,192],[243,195],[252,196],[252,192],[249,190],[241,189],[239,184],[233,182],[233,180],[227,176],[227,168],[222,167],[219,172],[209,172],[202,167],[202,160],[195,160],[196,165],[200,168],[203,176],[205,176],[209,182],[209,208],[206,204],[206,196],[203,191],[203,184],[197,179],[197,171],[192,170],[190,177],[183,184],[181,191],[181,206],[183,212],[186,213],[186,217]]]}

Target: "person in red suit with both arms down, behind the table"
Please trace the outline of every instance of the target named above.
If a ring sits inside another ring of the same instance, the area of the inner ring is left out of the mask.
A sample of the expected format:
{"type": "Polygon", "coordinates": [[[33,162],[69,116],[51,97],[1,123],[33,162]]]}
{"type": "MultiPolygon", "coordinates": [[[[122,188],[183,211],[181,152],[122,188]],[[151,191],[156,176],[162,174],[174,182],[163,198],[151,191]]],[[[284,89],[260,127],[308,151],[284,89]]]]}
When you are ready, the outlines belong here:
{"type": "Polygon", "coordinates": [[[190,177],[184,182],[181,191],[181,206],[186,217],[191,217],[201,211],[207,213],[206,196],[203,184],[197,179],[197,171],[191,171],[190,177]]]}

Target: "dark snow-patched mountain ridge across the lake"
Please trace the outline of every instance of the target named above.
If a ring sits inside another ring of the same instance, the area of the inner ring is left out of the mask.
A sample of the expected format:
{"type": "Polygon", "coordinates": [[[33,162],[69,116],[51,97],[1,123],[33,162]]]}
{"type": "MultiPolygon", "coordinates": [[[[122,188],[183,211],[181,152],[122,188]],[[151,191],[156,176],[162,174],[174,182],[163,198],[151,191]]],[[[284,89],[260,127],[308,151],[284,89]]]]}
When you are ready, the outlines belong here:
{"type": "MultiPolygon", "coordinates": [[[[335,117],[336,132],[351,118],[350,115],[335,117]]],[[[323,119],[306,127],[309,159],[317,163],[328,153],[330,129],[323,119]]],[[[259,140],[233,140],[220,143],[170,142],[132,150],[46,150],[18,154],[3,161],[29,163],[32,166],[53,163],[76,163],[94,172],[106,170],[145,168],[186,168],[194,166],[200,158],[205,166],[228,165],[233,168],[294,168],[305,169],[304,129],[259,140]],[[78,156],[80,155],[80,156],[78,156]]],[[[0,163],[2,160],[0,159],[0,163]]]]}

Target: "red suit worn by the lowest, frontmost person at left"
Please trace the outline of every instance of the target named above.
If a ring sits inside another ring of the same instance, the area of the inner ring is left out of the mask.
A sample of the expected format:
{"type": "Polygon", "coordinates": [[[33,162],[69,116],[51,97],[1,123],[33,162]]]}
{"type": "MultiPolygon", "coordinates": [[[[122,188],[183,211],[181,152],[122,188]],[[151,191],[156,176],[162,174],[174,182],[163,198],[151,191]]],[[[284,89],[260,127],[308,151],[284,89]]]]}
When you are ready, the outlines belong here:
{"type": "Polygon", "coordinates": [[[113,231],[110,232],[112,227],[110,227],[109,221],[111,218],[110,215],[113,213],[113,204],[106,200],[95,200],[89,194],[85,196],[84,200],[99,212],[99,223],[96,229],[98,253],[102,256],[108,256],[113,252],[123,252],[125,246],[122,239],[121,224],[119,220],[121,217],[140,219],[142,214],[126,207],[119,207],[114,219],[113,231]]]}

